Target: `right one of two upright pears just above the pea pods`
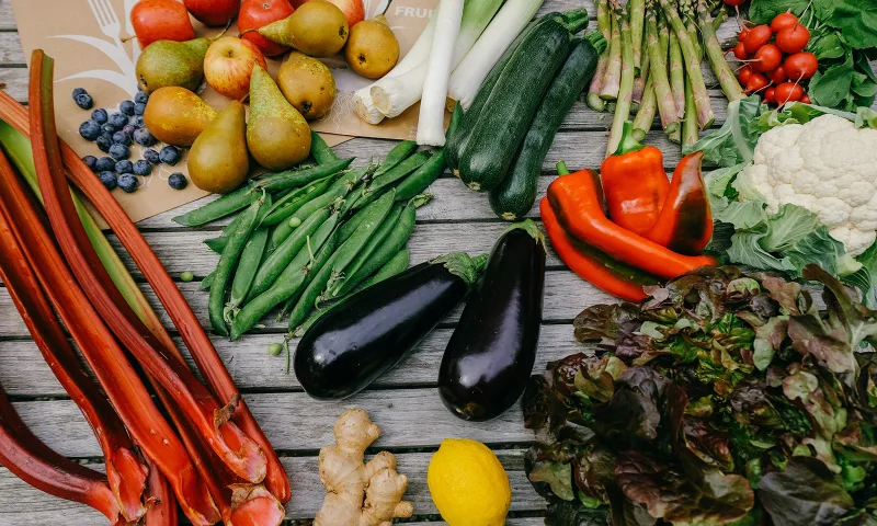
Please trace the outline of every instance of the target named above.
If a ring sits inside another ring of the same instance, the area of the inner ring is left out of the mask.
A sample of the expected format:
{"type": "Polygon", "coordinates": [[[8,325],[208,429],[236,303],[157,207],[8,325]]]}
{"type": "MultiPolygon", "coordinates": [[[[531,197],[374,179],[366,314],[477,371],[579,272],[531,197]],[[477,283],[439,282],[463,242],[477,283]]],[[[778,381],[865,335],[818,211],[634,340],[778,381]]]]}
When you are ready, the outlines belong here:
{"type": "Polygon", "coordinates": [[[250,77],[247,146],[253,159],[270,170],[285,170],[304,161],[310,152],[307,121],[259,65],[250,77]]]}

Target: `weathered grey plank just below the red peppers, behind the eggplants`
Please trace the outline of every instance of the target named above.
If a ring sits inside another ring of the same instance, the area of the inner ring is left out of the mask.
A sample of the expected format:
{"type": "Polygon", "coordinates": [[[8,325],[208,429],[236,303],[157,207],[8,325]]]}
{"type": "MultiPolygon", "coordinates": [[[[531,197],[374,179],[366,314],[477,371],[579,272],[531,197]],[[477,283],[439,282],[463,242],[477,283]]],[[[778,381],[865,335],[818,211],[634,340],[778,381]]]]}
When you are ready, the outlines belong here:
{"type": "MultiPolygon", "coordinates": [[[[424,260],[425,258],[412,261],[420,262],[424,260]]],[[[204,327],[209,327],[207,318],[207,293],[198,290],[198,286],[195,283],[180,283],[179,286],[183,293],[183,296],[189,301],[189,305],[192,306],[192,310],[194,310],[195,315],[198,317],[201,323],[204,327]]],[[[155,294],[152,294],[151,289],[149,289],[147,286],[144,286],[144,290],[146,298],[150,304],[152,304],[156,312],[159,313],[159,318],[161,319],[162,323],[164,323],[164,325],[169,329],[172,329],[173,325],[170,322],[170,319],[166,316],[164,309],[161,308],[160,304],[156,299],[155,294]]],[[[549,271],[546,273],[545,309],[543,317],[544,320],[549,323],[569,322],[589,305],[614,301],[617,300],[596,289],[593,285],[582,281],[569,271],[549,271]]],[[[462,307],[458,307],[452,311],[446,322],[455,322],[459,318],[462,310],[462,307]]],[[[269,315],[264,320],[262,320],[262,322],[264,323],[264,327],[260,328],[259,332],[273,332],[275,334],[286,332],[285,321],[277,322],[276,316],[269,315]]],[[[0,287],[0,335],[4,338],[11,336],[18,339],[30,338],[27,329],[21,321],[19,313],[15,311],[15,307],[12,305],[12,301],[9,298],[8,291],[3,287],[0,287]]],[[[244,339],[243,342],[246,341],[247,340],[244,339]]],[[[262,350],[259,352],[262,352],[262,350]]]]}

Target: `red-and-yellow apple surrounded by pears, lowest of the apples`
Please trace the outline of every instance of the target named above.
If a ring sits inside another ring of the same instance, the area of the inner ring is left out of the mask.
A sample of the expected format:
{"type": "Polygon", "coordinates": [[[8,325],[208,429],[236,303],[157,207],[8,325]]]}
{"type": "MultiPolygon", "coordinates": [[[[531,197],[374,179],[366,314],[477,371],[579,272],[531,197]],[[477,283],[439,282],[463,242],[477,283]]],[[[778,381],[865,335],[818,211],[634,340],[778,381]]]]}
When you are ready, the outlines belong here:
{"type": "Polygon", "coordinates": [[[250,93],[250,76],[257,64],[265,67],[265,57],[255,44],[237,36],[224,36],[207,48],[204,78],[218,93],[242,101],[250,93]]]}

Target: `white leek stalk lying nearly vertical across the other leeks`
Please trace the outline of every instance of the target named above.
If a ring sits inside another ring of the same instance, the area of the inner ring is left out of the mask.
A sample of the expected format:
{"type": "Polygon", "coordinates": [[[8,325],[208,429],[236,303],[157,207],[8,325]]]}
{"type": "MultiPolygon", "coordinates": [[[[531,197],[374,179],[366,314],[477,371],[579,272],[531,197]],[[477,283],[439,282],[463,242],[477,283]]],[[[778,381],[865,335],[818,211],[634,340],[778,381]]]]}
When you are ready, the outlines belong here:
{"type": "MultiPolygon", "coordinates": [[[[482,0],[470,0],[480,2],[482,0]]],[[[463,22],[463,0],[442,0],[422,85],[418,145],[445,146],[445,99],[454,69],[454,47],[463,22]]],[[[477,38],[477,37],[476,37],[477,38]]],[[[475,44],[475,41],[472,41],[475,44]]],[[[422,67],[422,66],[421,66],[422,67]]]]}

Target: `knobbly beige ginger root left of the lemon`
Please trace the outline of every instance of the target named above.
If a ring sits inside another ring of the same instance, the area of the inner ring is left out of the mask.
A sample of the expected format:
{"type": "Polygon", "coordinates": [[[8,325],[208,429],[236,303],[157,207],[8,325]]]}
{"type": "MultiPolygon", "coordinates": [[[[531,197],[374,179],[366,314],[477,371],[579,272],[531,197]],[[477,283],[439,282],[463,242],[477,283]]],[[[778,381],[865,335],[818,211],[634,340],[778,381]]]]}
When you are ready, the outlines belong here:
{"type": "Polygon", "coordinates": [[[362,409],[349,409],[333,428],[335,444],[320,449],[320,481],[326,487],[314,526],[390,526],[410,517],[414,506],[402,501],[408,478],[396,472],[396,457],[380,451],[363,464],[365,449],[380,428],[362,409]]]}

